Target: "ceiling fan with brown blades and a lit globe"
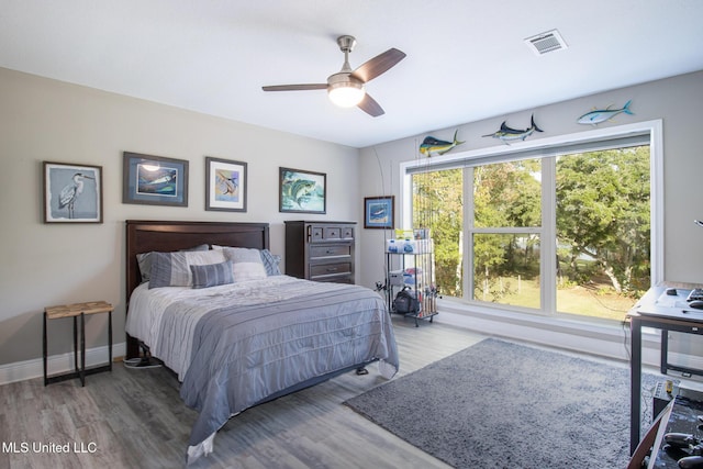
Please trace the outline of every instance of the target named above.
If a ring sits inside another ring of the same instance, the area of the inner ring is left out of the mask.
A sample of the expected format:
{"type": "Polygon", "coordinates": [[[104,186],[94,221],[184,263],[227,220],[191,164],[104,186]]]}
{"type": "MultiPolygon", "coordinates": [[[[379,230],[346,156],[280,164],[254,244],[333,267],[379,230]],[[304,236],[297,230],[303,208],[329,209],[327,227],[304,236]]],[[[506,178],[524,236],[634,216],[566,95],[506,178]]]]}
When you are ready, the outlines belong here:
{"type": "Polygon", "coordinates": [[[365,83],[369,82],[379,75],[388,71],[391,67],[405,58],[405,53],[389,48],[382,54],[377,55],[370,60],[364,63],[356,70],[349,66],[349,53],[354,51],[356,38],[349,35],[337,37],[339,49],[344,53],[344,65],[342,70],[327,77],[326,83],[306,83],[306,85],[275,85],[261,87],[264,91],[306,91],[306,90],[327,90],[330,99],[342,108],[358,107],[367,114],[378,118],[384,113],[373,98],[365,90],[365,83]]]}

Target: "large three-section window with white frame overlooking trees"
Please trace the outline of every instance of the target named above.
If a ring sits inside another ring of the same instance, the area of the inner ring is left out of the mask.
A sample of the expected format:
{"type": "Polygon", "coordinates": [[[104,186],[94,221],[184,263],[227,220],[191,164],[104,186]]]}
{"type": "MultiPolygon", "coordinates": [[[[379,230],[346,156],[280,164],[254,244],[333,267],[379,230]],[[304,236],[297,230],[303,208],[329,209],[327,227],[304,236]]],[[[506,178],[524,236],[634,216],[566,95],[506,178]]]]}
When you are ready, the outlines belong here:
{"type": "Polygon", "coordinates": [[[404,214],[432,230],[442,294],[622,320],[660,280],[660,132],[657,121],[405,164],[404,214]]]}

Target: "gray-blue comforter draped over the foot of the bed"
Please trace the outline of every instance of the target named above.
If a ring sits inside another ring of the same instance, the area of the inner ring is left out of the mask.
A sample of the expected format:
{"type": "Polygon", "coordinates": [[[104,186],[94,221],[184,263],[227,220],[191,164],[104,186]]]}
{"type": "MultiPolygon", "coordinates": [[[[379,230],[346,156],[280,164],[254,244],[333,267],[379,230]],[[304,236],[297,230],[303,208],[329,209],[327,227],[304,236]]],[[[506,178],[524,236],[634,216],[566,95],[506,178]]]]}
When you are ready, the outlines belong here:
{"type": "MultiPolygon", "coordinates": [[[[231,416],[315,377],[376,359],[387,378],[398,370],[392,324],[376,292],[305,280],[282,288],[274,302],[219,304],[182,339],[192,345],[180,395],[199,412],[189,445],[201,444],[231,416]]],[[[168,309],[163,328],[172,333],[177,327],[167,317],[168,309]]]]}

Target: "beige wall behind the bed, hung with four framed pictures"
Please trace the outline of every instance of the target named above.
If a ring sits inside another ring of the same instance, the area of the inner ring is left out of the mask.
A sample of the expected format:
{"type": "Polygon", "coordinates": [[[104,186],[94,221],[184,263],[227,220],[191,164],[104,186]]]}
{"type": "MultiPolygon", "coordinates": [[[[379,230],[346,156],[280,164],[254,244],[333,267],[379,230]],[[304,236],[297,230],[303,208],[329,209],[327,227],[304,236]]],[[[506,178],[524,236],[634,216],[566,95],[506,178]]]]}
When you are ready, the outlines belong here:
{"type": "MultiPolygon", "coordinates": [[[[359,220],[358,150],[0,68],[0,366],[42,356],[44,306],[107,300],[124,340],[124,221],[359,220]],[[122,152],[190,163],[188,208],[122,203],[122,152]],[[204,210],[205,156],[248,163],[246,213],[204,210]],[[104,223],[44,224],[42,161],[102,166],[104,223]],[[327,214],[278,211],[279,166],[327,174],[327,214]]],[[[104,315],[87,347],[105,345],[104,315]]],[[[70,350],[70,321],[49,324],[49,354],[70,350]]]]}

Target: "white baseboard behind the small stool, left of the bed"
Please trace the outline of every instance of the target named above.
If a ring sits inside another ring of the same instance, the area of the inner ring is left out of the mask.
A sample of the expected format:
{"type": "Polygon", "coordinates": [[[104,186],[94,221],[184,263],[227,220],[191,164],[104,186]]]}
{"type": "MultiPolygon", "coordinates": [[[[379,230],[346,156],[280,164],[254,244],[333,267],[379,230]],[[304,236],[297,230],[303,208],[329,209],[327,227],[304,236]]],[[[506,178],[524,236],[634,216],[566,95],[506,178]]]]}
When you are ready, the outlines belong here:
{"type": "MultiPolygon", "coordinates": [[[[112,345],[112,357],[123,357],[126,343],[112,345]]],[[[79,357],[80,358],[80,357],[79,357]]],[[[101,365],[108,361],[108,346],[89,348],[86,350],[86,367],[101,365]]],[[[53,355],[47,360],[48,376],[74,370],[74,353],[53,355]]],[[[0,386],[25,379],[44,377],[44,361],[42,358],[0,365],[0,386]]]]}

